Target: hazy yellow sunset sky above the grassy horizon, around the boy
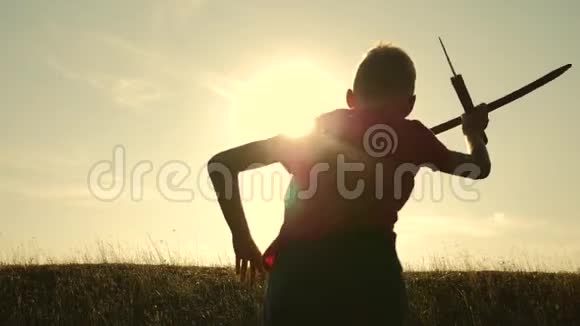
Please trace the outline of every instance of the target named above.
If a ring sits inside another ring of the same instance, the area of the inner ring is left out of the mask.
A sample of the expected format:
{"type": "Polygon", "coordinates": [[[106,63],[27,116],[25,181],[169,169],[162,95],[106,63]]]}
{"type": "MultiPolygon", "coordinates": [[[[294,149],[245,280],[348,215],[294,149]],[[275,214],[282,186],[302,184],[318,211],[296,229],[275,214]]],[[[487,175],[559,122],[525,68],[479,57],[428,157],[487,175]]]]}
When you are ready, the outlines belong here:
{"type": "MultiPolygon", "coordinates": [[[[428,126],[462,110],[438,36],[476,102],[580,58],[572,0],[2,0],[2,8],[4,261],[114,247],[229,263],[209,157],[345,107],[357,63],[379,41],[413,58],[412,117],[428,126]],[[109,163],[123,171],[106,173],[109,163]],[[136,170],[147,172],[135,178],[136,170]]],[[[470,257],[578,268],[578,89],[574,67],[494,112],[492,173],[468,193],[457,193],[454,178],[420,174],[396,225],[403,263],[470,257]]],[[[464,150],[459,130],[440,139],[464,150]]],[[[265,249],[289,176],[280,166],[260,175],[270,186],[252,183],[244,205],[265,249]]]]}

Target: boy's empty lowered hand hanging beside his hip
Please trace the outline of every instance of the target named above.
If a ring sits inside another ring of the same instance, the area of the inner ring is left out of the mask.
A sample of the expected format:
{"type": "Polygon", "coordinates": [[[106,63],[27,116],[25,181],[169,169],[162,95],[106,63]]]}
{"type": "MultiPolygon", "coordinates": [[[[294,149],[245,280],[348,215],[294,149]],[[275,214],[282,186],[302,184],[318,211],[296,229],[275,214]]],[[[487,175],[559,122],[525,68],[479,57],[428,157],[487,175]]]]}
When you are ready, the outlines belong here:
{"type": "Polygon", "coordinates": [[[249,282],[253,284],[256,274],[265,272],[262,264],[262,253],[250,235],[234,236],[234,252],[236,254],[236,274],[240,275],[240,281],[246,281],[248,264],[250,265],[249,282]]]}

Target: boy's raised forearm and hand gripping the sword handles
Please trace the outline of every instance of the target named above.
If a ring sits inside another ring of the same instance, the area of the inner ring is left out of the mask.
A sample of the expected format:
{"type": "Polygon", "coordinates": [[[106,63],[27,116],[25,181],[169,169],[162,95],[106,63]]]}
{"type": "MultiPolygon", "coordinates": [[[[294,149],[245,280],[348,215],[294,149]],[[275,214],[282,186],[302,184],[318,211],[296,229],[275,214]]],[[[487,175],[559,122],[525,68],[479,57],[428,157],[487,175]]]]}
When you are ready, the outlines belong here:
{"type": "Polygon", "coordinates": [[[464,114],[462,119],[468,154],[449,151],[447,162],[438,168],[453,175],[485,179],[491,172],[489,153],[481,136],[489,122],[485,104],[477,106],[473,112],[464,114]]]}

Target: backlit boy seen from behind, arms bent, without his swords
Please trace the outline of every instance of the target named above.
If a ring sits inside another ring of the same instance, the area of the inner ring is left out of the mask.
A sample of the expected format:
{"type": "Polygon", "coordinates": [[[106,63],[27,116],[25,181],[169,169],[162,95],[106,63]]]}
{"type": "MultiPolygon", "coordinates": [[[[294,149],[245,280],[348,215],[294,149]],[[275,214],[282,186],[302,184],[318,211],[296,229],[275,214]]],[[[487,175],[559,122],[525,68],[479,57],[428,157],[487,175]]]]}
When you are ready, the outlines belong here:
{"type": "Polygon", "coordinates": [[[379,45],[358,67],[346,95],[349,108],[318,117],[311,134],[275,136],[210,159],[236,272],[253,281],[269,271],[266,325],[404,323],[407,297],[393,228],[415,174],[427,166],[481,179],[491,168],[481,137],[485,104],[463,116],[469,154],[448,150],[421,122],[407,119],[415,79],[402,49],[379,45]],[[276,162],[293,178],[280,233],[262,255],[244,216],[237,175],[276,162]]]}

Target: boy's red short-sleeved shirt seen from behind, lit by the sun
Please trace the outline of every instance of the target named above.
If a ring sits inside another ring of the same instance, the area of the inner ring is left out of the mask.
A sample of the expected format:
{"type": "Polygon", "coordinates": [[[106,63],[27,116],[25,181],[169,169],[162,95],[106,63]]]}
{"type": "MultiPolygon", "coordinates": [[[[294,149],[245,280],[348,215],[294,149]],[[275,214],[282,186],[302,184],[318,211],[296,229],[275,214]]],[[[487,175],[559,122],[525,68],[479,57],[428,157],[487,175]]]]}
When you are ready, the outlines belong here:
{"type": "Polygon", "coordinates": [[[437,169],[448,158],[448,149],[421,122],[369,110],[325,113],[313,134],[296,143],[284,149],[282,164],[293,179],[280,234],[264,253],[267,268],[288,239],[360,224],[392,230],[419,167],[437,169]]]}

